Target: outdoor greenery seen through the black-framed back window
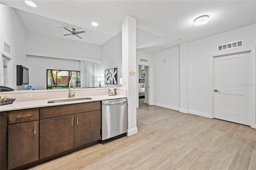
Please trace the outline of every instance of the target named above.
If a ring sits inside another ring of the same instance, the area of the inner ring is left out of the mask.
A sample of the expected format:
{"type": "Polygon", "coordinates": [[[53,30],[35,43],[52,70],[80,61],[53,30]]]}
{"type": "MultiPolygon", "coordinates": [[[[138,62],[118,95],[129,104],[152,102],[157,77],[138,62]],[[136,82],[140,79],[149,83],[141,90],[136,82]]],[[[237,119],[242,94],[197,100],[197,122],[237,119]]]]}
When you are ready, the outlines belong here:
{"type": "Polygon", "coordinates": [[[46,70],[47,89],[68,88],[68,82],[74,80],[76,87],[81,87],[80,71],[46,70]]]}

